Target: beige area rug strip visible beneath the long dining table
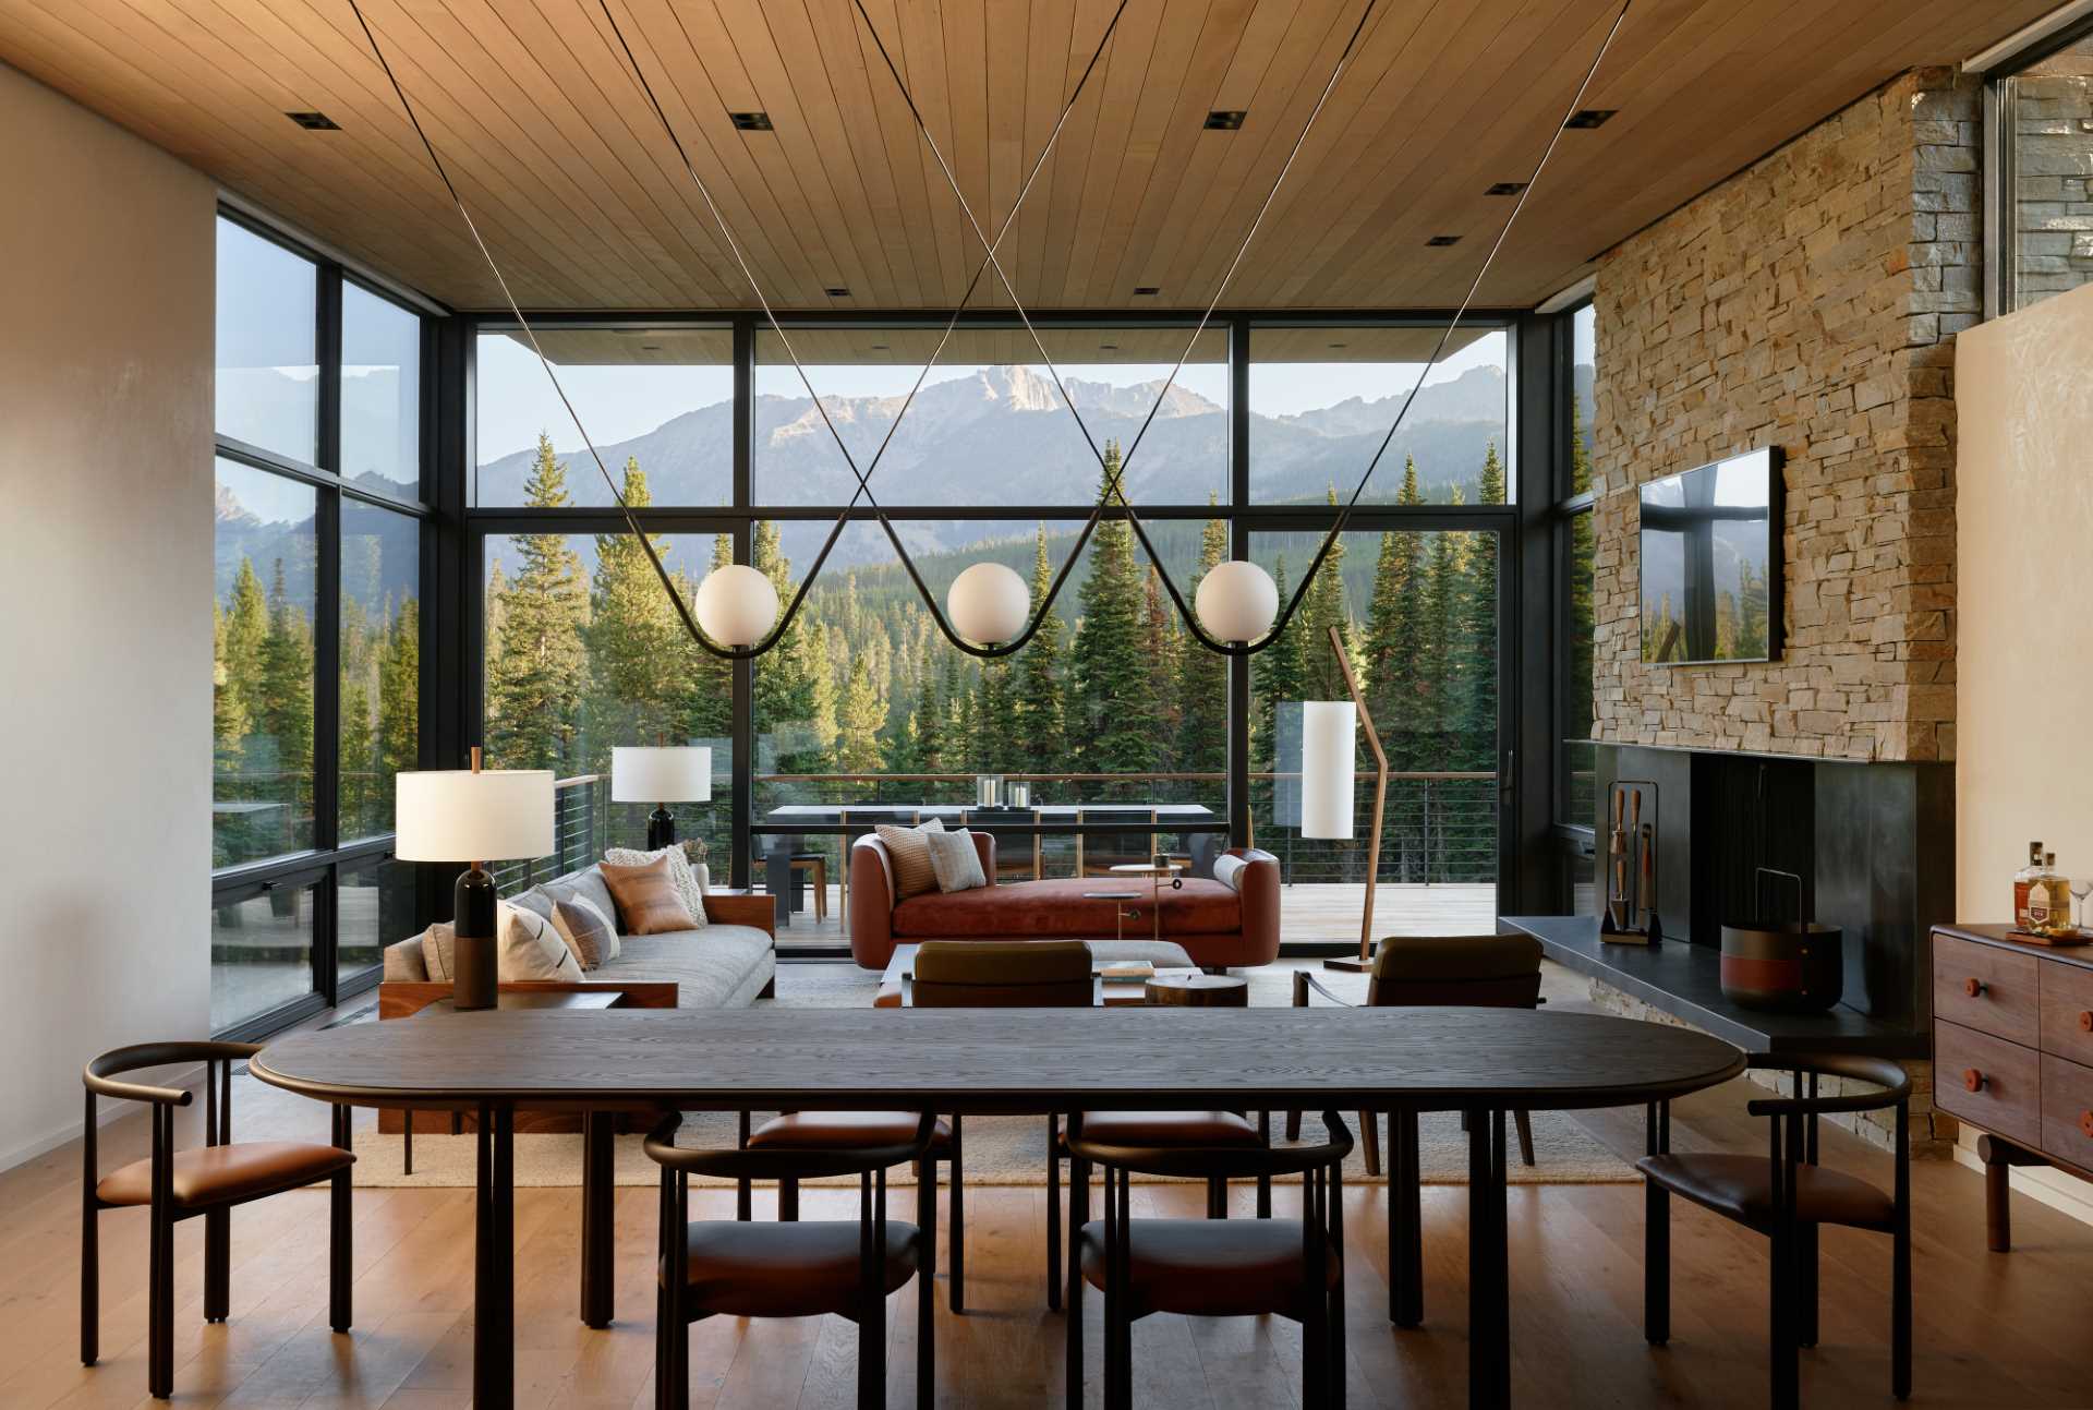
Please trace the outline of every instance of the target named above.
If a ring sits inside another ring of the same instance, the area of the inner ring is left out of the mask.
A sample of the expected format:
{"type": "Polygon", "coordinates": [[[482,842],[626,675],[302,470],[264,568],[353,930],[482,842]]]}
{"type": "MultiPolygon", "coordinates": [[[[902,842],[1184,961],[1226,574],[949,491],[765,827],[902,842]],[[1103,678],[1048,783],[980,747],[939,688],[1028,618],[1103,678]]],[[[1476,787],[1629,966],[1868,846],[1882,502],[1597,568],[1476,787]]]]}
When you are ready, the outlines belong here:
{"type": "MultiPolygon", "coordinates": [[[[1275,1117],[1275,1136],[1283,1123],[1275,1117]]],[[[1356,1123],[1352,1136],[1358,1138],[1356,1123]]],[[[1046,1184],[1046,1119],[1044,1117],[967,1117],[967,1186],[1044,1186],[1046,1184]]],[[[1323,1138],[1323,1123],[1310,1117],[1302,1129],[1308,1140],[1323,1138]]],[[[1425,1184],[1467,1184],[1467,1133],[1457,1112],[1427,1112],[1419,1119],[1419,1169],[1425,1184]]],[[[1505,1123],[1509,1144],[1507,1175],[1511,1184],[1637,1184],[1635,1167],[1593,1138],[1566,1112],[1534,1112],[1534,1165],[1520,1165],[1511,1123],[1505,1123]]],[[[651,1186],[661,1169],[647,1159],[640,1136],[620,1136],[617,1184],[651,1186]]],[[[682,1146],[733,1148],[735,1117],[730,1112],[693,1112],[676,1138],[682,1146]]],[[[582,1138],[523,1133],[515,1138],[515,1180],[523,1188],[580,1186],[582,1138]]],[[[414,1136],[414,1173],[402,1171],[402,1138],[358,1131],[356,1184],[393,1186],[471,1186],[477,1169],[477,1142],[471,1136],[414,1136]]],[[[1386,1148],[1383,1148],[1386,1154],[1386,1148]]],[[[938,1167],[944,1184],[948,1169],[938,1167]]],[[[1067,1169],[1063,1167],[1063,1180],[1067,1169]]],[[[1369,1177],[1358,1148],[1346,1161],[1348,1182],[1381,1184],[1369,1177]]],[[[1143,1177],[1134,1177],[1143,1182],[1143,1177]]],[[[693,1184],[726,1184],[695,1177],[693,1184]]],[[[808,1180],[808,1186],[856,1184],[843,1180],[808,1180]]],[[[892,1186],[915,1186],[915,1173],[898,1167],[887,1173],[892,1186]]],[[[1155,1184],[1162,1184],[1155,1180],[1155,1184]]],[[[1293,1182],[1298,1184],[1298,1182],[1293,1182]]]]}

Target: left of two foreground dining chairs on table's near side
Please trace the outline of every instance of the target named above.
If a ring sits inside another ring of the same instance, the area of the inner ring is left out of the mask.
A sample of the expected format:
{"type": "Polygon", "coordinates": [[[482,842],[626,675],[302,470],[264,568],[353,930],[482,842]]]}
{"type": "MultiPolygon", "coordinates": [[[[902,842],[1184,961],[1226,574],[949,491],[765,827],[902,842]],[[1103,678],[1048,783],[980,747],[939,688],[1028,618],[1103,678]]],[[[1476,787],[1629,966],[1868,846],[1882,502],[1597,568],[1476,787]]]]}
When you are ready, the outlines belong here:
{"type": "Polygon", "coordinates": [[[661,1240],[655,1297],[655,1410],[689,1410],[691,1322],[705,1318],[816,1318],[858,1324],[858,1406],[885,1404],[887,1295],[917,1280],[917,1406],[938,1400],[936,1301],[938,1186],[917,1182],[917,1224],[887,1219],[887,1171],[929,1159],[936,1117],[913,1119],[904,1140],[820,1150],[689,1150],[680,1115],[647,1136],[661,1167],[661,1240]],[[858,1177],[856,1219],[691,1221],[691,1175],[724,1180],[858,1177]]]}

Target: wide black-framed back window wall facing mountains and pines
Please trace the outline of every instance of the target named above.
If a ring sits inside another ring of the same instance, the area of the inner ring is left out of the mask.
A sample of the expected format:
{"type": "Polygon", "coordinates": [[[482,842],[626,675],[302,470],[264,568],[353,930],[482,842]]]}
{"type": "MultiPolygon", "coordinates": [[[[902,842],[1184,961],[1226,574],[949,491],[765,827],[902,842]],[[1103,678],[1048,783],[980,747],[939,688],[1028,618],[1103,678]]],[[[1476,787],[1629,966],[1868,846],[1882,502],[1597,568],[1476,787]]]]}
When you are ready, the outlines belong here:
{"type": "MultiPolygon", "coordinates": [[[[530,337],[481,325],[469,605],[486,643],[479,719],[492,761],[569,779],[561,798],[576,798],[578,836],[636,840],[645,807],[580,802],[601,790],[609,748],[710,744],[714,796],[678,815],[684,836],[707,842],[714,878],[789,884],[812,909],[806,888],[823,865],[829,918],[787,911],[787,945],[841,939],[841,842],[862,823],[800,830],[806,815],[793,809],[965,805],[977,775],[1026,784],[1032,805],[1247,817],[1256,842],[1300,861],[1300,876],[1356,897],[1363,844],[1287,836],[1298,823],[1275,800],[1275,775],[1298,773],[1298,756],[1273,754],[1264,710],[1275,691],[1283,704],[1342,698],[1327,645],[1304,645],[1329,618],[1400,725],[1383,880],[1417,886],[1419,903],[1467,905],[1459,924],[1486,924],[1505,777],[1511,580],[1499,561],[1515,484],[1505,327],[1463,325],[1440,350],[1444,323],[1421,318],[1226,316],[1197,337],[1164,318],[1036,323],[1044,352],[1021,323],[992,314],[948,339],[942,323],[812,316],[787,318],[783,335],[747,316],[538,327],[687,601],[716,564],[753,564],[787,605],[812,576],[781,645],[745,666],[684,639],[530,337]],[[1291,589],[1419,379],[1325,572],[1335,595],[1316,587],[1287,641],[1254,662],[1193,641],[1118,505],[1078,551],[1111,465],[1187,603],[1226,557],[1277,570],[1283,555],[1291,589]],[[814,574],[839,513],[848,522],[814,574]],[[1034,603],[1063,568],[1067,578],[1038,635],[984,662],[938,631],[894,538],[940,608],[952,578],[984,559],[1013,568],[1034,603]],[[1377,595],[1377,578],[1402,576],[1409,559],[1415,582],[1377,595]],[[1434,664],[1417,689],[1381,649],[1411,635],[1434,664]],[[1289,654],[1312,658],[1293,685],[1270,677],[1289,654]],[[1250,698],[1245,712],[1231,710],[1233,691],[1250,698]]],[[[1195,842],[1157,823],[1157,851],[1203,851],[1195,842]]],[[[1118,859],[1116,844],[1128,846],[1109,834],[1019,838],[1003,861],[1009,876],[1070,876],[1118,859]]],[[[1344,899],[1323,909],[1342,913],[1344,899]]],[[[1386,899],[1381,918],[1392,920],[1386,899]]],[[[1354,905],[1348,924],[1310,939],[1356,926],[1354,905]]]]}

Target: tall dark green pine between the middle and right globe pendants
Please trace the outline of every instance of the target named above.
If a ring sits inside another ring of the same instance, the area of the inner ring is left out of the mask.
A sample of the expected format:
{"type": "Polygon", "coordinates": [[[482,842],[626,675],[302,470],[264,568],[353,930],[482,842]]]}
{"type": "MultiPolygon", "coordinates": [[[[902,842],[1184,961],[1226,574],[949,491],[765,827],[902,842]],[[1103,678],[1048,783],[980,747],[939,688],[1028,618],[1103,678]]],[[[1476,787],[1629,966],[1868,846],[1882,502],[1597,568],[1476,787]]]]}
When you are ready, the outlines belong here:
{"type": "MultiPolygon", "coordinates": [[[[1111,440],[1105,442],[1101,497],[1118,469],[1120,444],[1111,440]]],[[[1141,658],[1141,574],[1126,520],[1097,526],[1090,576],[1078,599],[1082,624],[1072,652],[1070,714],[1080,767],[1090,773],[1145,773],[1155,754],[1157,702],[1147,689],[1141,658]]]]}

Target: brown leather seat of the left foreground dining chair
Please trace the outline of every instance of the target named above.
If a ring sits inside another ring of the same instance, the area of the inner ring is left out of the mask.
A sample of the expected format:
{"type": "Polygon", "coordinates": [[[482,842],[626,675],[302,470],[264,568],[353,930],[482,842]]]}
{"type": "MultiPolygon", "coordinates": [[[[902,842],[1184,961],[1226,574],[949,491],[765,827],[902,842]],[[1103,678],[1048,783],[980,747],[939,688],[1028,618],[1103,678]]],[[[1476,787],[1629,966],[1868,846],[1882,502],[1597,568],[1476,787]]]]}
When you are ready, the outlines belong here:
{"type": "MultiPolygon", "coordinates": [[[[858,1240],[856,1219],[691,1224],[684,1230],[689,1305],[730,1318],[852,1314],[862,1274],[858,1240]]],[[[887,1219],[885,1291],[900,1291],[915,1272],[917,1226],[887,1219]]],[[[666,1263],[661,1276],[670,1276],[666,1263]]]]}

